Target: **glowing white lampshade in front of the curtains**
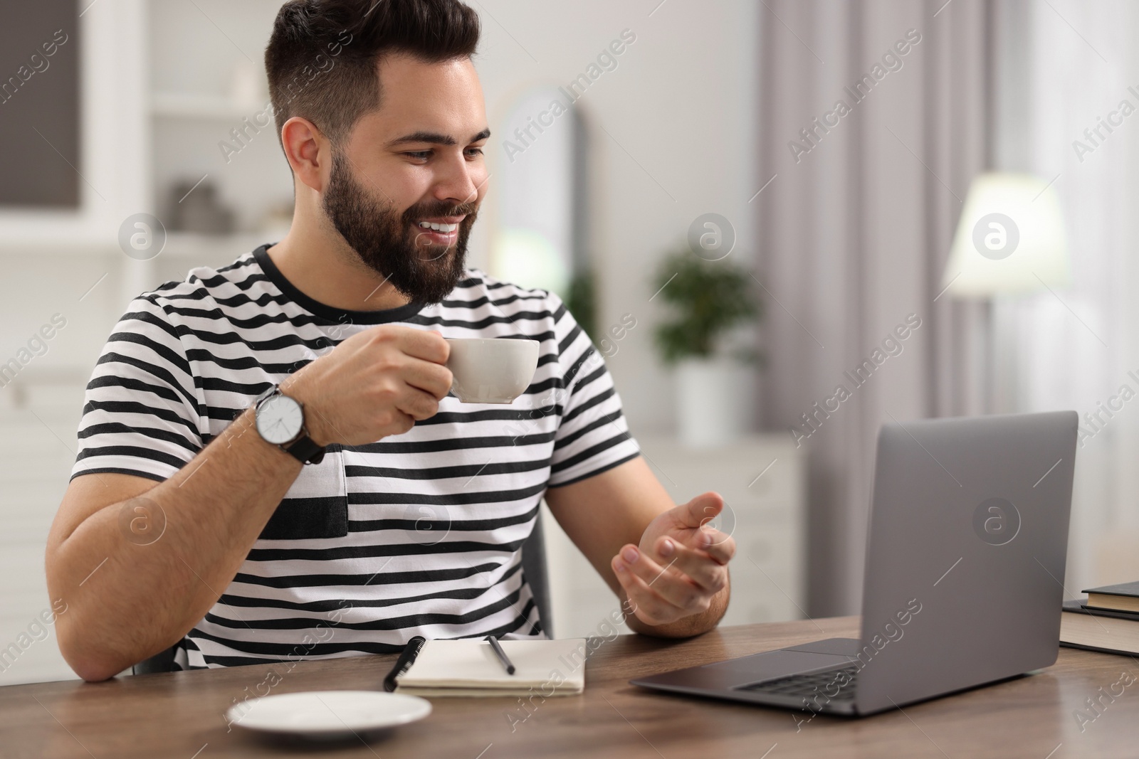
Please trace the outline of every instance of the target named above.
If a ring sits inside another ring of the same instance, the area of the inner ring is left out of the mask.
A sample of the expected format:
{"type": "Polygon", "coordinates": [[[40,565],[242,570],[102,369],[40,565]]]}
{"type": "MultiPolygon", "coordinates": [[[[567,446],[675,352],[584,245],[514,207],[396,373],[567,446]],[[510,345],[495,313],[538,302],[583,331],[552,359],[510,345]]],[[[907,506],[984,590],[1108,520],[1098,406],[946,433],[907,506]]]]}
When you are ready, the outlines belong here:
{"type": "Polygon", "coordinates": [[[974,179],[942,278],[949,295],[990,298],[1071,283],[1056,191],[1031,174],[974,179]]]}

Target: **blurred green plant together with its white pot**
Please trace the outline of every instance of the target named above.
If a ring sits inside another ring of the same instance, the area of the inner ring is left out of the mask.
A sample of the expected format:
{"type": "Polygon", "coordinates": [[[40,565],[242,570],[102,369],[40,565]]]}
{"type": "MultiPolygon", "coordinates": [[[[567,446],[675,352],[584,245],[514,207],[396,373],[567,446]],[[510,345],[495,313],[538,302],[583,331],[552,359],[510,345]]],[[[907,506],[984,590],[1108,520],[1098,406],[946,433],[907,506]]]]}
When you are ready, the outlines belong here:
{"type": "Polygon", "coordinates": [[[760,356],[734,349],[730,338],[761,315],[751,277],[683,248],[661,262],[654,289],[671,311],[655,337],[661,358],[675,368],[681,442],[713,446],[747,432],[760,356]]]}

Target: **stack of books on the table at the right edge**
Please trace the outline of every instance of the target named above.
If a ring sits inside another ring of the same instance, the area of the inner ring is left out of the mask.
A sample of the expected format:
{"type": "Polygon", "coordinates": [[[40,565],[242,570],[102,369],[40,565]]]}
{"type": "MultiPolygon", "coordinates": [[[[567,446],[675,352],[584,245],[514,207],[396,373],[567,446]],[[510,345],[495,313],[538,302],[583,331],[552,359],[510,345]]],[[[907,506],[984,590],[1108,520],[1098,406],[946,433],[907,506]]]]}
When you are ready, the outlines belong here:
{"type": "Polygon", "coordinates": [[[1060,645],[1139,654],[1139,581],[1083,591],[1085,601],[1065,601],[1060,645]]]}

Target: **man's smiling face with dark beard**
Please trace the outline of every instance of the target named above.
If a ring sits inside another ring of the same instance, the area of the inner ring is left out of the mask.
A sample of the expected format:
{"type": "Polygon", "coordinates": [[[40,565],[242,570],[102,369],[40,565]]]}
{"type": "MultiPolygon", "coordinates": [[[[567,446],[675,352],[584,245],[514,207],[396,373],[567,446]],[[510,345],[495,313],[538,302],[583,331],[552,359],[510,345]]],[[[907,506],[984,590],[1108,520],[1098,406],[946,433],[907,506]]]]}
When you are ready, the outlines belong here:
{"type": "Polygon", "coordinates": [[[437,303],[462,275],[486,191],[490,137],[467,58],[378,64],[380,107],[333,146],[322,205],[361,261],[417,303],[437,303]]]}

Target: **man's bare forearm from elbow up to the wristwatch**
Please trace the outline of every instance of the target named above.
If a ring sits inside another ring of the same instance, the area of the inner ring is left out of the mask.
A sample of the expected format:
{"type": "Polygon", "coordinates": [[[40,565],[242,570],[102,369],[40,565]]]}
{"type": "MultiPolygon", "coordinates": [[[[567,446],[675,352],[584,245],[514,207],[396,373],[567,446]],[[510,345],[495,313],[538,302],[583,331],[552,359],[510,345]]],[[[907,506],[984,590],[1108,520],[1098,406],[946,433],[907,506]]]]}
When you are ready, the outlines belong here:
{"type": "Polygon", "coordinates": [[[233,579],[301,468],[261,438],[247,410],[173,477],[139,496],[165,514],[154,543],[132,542],[121,526],[133,498],[52,535],[48,585],[51,597],[67,603],[57,630],[75,671],[104,679],[185,635],[233,579]]]}

